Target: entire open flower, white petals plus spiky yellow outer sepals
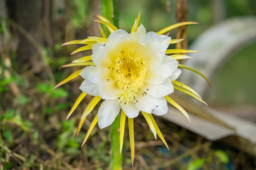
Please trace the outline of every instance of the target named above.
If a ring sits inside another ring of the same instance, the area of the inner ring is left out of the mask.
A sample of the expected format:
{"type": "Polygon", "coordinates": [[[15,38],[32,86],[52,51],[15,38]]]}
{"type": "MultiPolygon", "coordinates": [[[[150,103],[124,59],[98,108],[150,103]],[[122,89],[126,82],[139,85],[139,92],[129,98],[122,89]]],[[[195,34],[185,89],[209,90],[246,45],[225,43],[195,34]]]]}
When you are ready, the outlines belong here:
{"type": "MultiPolygon", "coordinates": [[[[192,88],[176,81],[181,74],[180,68],[192,69],[179,64],[177,61],[191,57],[180,54],[175,55],[174,53],[191,53],[197,51],[167,49],[170,44],[180,42],[183,39],[172,40],[171,37],[163,35],[178,26],[197,23],[182,22],[168,26],[157,33],[146,32],[145,27],[142,24],[139,25],[139,14],[132,26],[131,33],[127,33],[122,29],[117,29],[103,16],[97,15],[97,17],[100,20],[95,21],[105,24],[110,31],[110,35],[108,38],[88,37],[84,40],[73,40],[64,43],[63,45],[84,44],[85,46],[75,50],[72,54],[92,49],[92,55],[81,57],[70,64],[61,66],[85,67],[82,70],[76,71],[67,77],[67,79],[64,79],[57,86],[70,81],[78,75],[84,78],[79,87],[82,93],[74,103],[67,118],[70,117],[87,94],[94,96],[82,113],[76,135],[81,130],[88,114],[101,99],[103,100],[97,115],[88,129],[83,144],[88,139],[97,122],[100,128],[105,128],[113,123],[118,114],[121,114],[121,152],[124,141],[124,127],[126,117],[128,117],[133,163],[133,118],[141,113],[145,117],[155,139],[158,135],[168,148],[164,136],[153,118],[153,114],[157,116],[166,114],[168,102],[179,109],[189,119],[187,112],[168,96],[174,92],[174,89],[191,95],[200,102],[203,102],[198,93],[192,88]]],[[[106,35],[104,32],[101,33],[103,37],[106,35]]]]}

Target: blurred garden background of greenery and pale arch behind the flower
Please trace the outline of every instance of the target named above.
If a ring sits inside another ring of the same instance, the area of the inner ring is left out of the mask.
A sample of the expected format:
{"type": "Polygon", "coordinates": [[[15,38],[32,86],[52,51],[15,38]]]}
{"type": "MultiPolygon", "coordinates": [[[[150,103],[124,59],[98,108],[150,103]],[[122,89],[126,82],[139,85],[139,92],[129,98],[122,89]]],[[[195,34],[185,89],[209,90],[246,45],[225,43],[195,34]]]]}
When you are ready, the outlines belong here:
{"type": "MultiPolygon", "coordinates": [[[[174,99],[187,101],[188,112],[202,119],[195,118],[198,121],[194,122],[204,122],[205,129],[207,122],[215,124],[211,132],[200,133],[195,126],[186,125],[188,122],[183,125],[170,117],[155,117],[170,151],[162,141],[155,141],[143,117],[136,118],[132,169],[254,170],[256,1],[118,0],[117,4],[119,27],[128,32],[139,11],[140,22],[147,31],[159,31],[180,22],[177,18],[182,14],[187,14],[188,21],[199,23],[188,26],[188,34],[183,38],[188,49],[201,52],[190,55],[193,59],[183,64],[204,73],[212,88],[195,73],[184,71],[180,80],[195,88],[209,108],[215,110],[207,117],[204,106],[194,105],[198,101],[175,92],[174,99]],[[187,13],[177,10],[182,2],[187,13]],[[220,126],[232,131],[222,137],[211,136],[220,126]]],[[[81,93],[78,87],[82,78],[54,89],[58,82],[79,69],[59,70],[59,67],[82,57],[82,54],[70,56],[78,45],[61,47],[61,44],[100,36],[93,22],[97,14],[100,14],[99,0],[0,0],[0,170],[108,169],[109,128],[100,130],[96,126],[80,148],[94,117],[88,116],[74,140],[90,96],[66,121],[81,93]]],[[[176,30],[171,36],[175,38],[176,30]]],[[[131,163],[127,133],[125,139],[124,169],[128,170],[131,163]]]]}

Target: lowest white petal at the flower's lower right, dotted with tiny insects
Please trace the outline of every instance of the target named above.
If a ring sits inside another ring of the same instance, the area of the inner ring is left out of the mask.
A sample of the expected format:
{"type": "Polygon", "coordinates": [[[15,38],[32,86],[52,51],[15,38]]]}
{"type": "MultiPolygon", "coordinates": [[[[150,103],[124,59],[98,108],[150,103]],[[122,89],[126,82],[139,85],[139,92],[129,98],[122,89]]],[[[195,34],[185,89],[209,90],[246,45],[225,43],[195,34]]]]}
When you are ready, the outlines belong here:
{"type": "Polygon", "coordinates": [[[153,100],[155,105],[151,113],[157,116],[166,114],[168,111],[166,99],[164,97],[161,97],[159,99],[153,98],[153,100]]]}

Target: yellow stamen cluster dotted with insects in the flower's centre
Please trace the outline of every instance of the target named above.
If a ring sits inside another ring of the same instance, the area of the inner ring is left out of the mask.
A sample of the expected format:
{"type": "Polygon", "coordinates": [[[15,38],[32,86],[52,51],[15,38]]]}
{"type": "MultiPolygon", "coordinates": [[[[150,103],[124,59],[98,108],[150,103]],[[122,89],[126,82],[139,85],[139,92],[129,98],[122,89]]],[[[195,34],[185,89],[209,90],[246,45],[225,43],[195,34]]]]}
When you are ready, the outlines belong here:
{"type": "Polygon", "coordinates": [[[132,49],[120,51],[113,64],[113,74],[120,90],[117,93],[119,102],[127,104],[134,102],[136,104],[137,94],[141,93],[141,87],[148,77],[148,61],[137,54],[132,49]]]}

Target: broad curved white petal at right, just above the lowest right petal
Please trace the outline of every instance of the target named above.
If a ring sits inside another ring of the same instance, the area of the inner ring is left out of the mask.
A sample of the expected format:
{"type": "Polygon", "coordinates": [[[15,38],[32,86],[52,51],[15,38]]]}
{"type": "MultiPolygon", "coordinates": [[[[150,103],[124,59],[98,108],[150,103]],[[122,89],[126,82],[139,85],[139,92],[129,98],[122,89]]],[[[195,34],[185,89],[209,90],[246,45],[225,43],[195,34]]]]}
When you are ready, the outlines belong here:
{"type": "Polygon", "coordinates": [[[143,90],[153,97],[160,98],[173,93],[174,88],[171,80],[167,78],[157,85],[145,83],[143,90]]]}

